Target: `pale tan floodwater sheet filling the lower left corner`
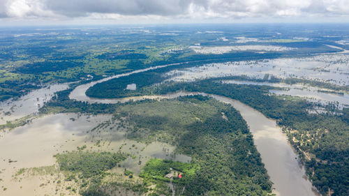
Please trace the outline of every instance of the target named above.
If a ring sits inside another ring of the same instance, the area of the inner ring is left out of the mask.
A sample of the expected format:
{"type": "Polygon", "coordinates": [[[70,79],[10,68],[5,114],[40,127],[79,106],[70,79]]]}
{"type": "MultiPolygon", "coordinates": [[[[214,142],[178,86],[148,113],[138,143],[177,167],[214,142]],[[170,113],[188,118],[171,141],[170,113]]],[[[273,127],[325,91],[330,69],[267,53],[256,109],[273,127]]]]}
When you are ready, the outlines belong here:
{"type": "Polygon", "coordinates": [[[78,116],[77,114],[56,114],[34,119],[32,123],[15,128],[0,139],[0,195],[52,195],[56,186],[54,176],[29,176],[14,180],[13,174],[24,167],[53,165],[56,153],[76,150],[85,142],[85,130],[104,121],[108,116],[78,116]],[[73,121],[73,119],[75,119],[73,121]],[[14,161],[10,163],[10,160],[14,161]],[[47,186],[40,187],[45,181],[47,186]],[[46,182],[47,182],[46,181],[46,182]]]}

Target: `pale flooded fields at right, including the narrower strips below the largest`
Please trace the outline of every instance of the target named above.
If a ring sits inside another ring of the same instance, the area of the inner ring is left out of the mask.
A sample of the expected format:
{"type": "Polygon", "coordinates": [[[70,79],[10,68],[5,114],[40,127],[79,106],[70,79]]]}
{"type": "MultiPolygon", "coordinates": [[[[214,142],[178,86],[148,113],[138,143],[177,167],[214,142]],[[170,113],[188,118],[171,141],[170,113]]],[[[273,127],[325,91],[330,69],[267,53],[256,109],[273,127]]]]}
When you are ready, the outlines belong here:
{"type": "MultiPolygon", "coordinates": [[[[266,75],[279,78],[299,78],[329,82],[340,86],[349,85],[349,57],[346,54],[328,54],[299,59],[273,59],[263,61],[239,61],[228,63],[211,63],[195,68],[172,70],[167,75],[169,80],[191,82],[214,77],[244,75],[254,79],[263,79],[266,75]]],[[[269,76],[270,77],[270,76],[269,76]]],[[[273,90],[276,95],[290,95],[306,98],[314,103],[334,103],[339,109],[349,107],[348,93],[333,93],[302,84],[280,84],[271,82],[247,82],[230,80],[231,84],[266,85],[285,88],[273,90]]]]}

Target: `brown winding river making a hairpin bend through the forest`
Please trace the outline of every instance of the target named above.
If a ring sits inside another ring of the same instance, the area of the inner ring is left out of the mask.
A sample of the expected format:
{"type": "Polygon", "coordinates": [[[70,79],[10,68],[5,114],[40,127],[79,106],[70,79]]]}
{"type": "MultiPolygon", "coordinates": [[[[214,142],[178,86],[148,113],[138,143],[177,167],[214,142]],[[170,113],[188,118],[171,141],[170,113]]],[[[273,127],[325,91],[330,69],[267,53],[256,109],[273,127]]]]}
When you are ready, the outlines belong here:
{"type": "MultiPolygon", "coordinates": [[[[140,73],[142,71],[146,70],[138,70],[133,73],[140,73]]],[[[179,96],[200,94],[202,96],[215,98],[223,103],[228,103],[242,114],[242,117],[248,124],[251,133],[253,134],[255,145],[261,154],[262,162],[265,164],[270,179],[274,183],[274,193],[282,196],[317,195],[311,182],[306,179],[304,168],[297,161],[297,153],[295,153],[292,146],[288,143],[288,138],[282,133],[281,128],[276,126],[276,121],[267,119],[266,116],[257,110],[254,110],[252,107],[249,107],[238,100],[232,100],[223,96],[207,93],[188,93],[183,91],[161,96],[139,96],[121,99],[89,98],[85,94],[87,89],[94,86],[94,84],[105,82],[112,78],[131,75],[133,73],[115,75],[114,77],[107,77],[103,80],[77,86],[77,88],[70,93],[69,98],[86,101],[88,103],[119,103],[129,100],[143,100],[146,98],[177,98],[179,96]]]]}

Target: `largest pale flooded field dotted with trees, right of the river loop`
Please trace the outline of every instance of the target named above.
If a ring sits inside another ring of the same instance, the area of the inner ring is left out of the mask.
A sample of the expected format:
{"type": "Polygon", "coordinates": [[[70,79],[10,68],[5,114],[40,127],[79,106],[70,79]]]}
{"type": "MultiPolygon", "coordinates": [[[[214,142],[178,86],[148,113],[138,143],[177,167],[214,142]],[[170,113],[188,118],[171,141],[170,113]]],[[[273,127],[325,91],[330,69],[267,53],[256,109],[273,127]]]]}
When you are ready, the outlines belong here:
{"type": "Polygon", "coordinates": [[[262,79],[269,74],[283,79],[295,77],[345,86],[349,84],[348,63],[349,56],[346,54],[326,54],[299,59],[211,63],[195,68],[173,70],[168,75],[172,77],[170,80],[174,81],[193,81],[231,75],[262,79]]]}

